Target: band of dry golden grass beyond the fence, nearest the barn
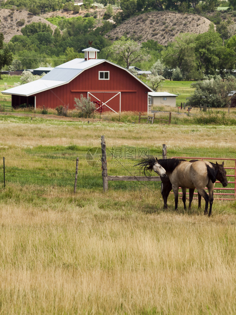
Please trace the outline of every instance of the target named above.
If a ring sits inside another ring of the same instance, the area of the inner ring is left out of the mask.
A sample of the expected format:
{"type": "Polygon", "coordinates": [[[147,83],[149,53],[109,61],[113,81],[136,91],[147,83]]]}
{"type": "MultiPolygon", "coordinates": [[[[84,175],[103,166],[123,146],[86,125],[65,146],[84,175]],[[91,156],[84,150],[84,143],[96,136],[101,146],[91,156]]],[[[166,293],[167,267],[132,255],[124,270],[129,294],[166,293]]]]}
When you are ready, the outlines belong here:
{"type": "Polygon", "coordinates": [[[0,124],[0,146],[27,148],[63,145],[100,146],[105,135],[107,146],[158,147],[165,143],[169,149],[177,147],[236,148],[235,126],[149,125],[125,123],[83,123],[41,121],[41,118],[15,122],[12,118],[0,124]]]}

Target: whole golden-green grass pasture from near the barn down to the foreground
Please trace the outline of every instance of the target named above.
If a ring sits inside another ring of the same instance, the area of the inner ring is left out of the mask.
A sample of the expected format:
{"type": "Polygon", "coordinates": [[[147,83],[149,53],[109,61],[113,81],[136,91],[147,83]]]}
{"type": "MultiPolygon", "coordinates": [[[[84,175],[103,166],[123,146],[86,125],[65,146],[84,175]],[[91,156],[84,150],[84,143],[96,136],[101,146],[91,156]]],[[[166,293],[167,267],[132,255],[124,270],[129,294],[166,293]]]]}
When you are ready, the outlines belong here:
{"type": "MultiPolygon", "coordinates": [[[[0,115],[0,163],[37,177],[47,159],[55,172],[74,172],[78,156],[86,172],[101,135],[117,154],[148,148],[160,158],[165,143],[167,157],[236,158],[233,124],[131,121],[0,115]]],[[[108,160],[109,172],[134,161],[121,162],[108,160]]],[[[190,211],[179,200],[175,211],[170,195],[163,210],[159,182],[109,182],[103,193],[101,169],[94,173],[78,178],[75,194],[73,177],[0,183],[1,314],[236,313],[236,201],[214,200],[208,218],[197,200],[190,211]]]]}

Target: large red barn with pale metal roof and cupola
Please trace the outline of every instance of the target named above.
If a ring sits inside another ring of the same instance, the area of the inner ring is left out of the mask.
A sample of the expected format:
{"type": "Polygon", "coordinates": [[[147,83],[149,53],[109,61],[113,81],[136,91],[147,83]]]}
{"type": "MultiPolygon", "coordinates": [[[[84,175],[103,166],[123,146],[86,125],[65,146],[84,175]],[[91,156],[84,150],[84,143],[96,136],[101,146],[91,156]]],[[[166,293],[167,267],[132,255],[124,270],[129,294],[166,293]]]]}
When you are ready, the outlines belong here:
{"type": "Polygon", "coordinates": [[[74,59],[53,68],[39,80],[3,94],[12,95],[12,106],[41,108],[60,105],[74,108],[75,97],[100,102],[102,111],[148,111],[148,92],[153,90],[127,69],[105,59],[97,59],[98,49],[83,49],[84,59],[74,59]]]}

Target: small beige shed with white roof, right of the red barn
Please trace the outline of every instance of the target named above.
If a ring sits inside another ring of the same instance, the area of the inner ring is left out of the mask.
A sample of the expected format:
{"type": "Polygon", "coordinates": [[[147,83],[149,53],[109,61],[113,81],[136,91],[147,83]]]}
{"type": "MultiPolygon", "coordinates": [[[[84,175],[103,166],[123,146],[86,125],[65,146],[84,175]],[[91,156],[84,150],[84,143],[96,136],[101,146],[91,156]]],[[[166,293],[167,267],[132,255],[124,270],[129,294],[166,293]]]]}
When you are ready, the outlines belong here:
{"type": "Polygon", "coordinates": [[[176,96],[168,92],[149,92],[149,105],[176,107],[176,96]]]}

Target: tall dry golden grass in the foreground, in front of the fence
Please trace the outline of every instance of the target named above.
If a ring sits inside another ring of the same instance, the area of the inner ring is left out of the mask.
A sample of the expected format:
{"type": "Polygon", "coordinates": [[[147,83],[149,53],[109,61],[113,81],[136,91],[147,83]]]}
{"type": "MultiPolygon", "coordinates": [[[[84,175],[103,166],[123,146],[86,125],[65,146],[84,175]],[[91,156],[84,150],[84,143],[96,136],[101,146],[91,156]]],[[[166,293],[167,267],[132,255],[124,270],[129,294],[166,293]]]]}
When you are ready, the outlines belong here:
{"type": "Polygon", "coordinates": [[[220,203],[209,219],[163,212],[160,192],[47,188],[31,205],[35,189],[1,198],[1,314],[235,314],[236,216],[220,203]]]}

